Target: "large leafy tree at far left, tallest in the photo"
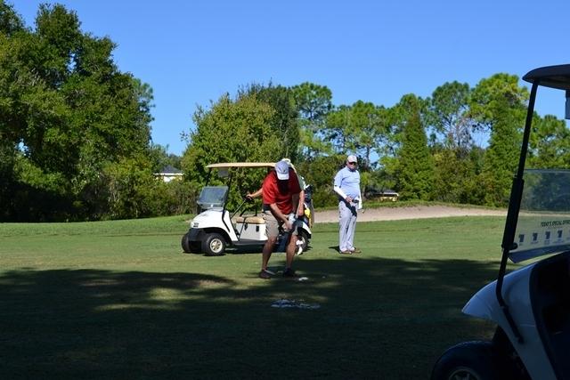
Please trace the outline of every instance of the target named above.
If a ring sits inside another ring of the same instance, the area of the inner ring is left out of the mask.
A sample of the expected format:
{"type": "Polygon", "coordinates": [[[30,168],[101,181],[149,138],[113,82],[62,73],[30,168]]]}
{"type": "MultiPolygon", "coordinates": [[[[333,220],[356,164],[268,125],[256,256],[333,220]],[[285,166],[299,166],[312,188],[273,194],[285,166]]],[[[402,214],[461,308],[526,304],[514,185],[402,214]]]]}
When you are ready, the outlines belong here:
{"type": "Polygon", "coordinates": [[[115,44],[83,33],[75,12],[42,4],[32,30],[10,9],[0,6],[0,145],[13,154],[14,208],[88,217],[107,202],[102,169],[149,150],[151,88],[118,71],[115,44]]]}

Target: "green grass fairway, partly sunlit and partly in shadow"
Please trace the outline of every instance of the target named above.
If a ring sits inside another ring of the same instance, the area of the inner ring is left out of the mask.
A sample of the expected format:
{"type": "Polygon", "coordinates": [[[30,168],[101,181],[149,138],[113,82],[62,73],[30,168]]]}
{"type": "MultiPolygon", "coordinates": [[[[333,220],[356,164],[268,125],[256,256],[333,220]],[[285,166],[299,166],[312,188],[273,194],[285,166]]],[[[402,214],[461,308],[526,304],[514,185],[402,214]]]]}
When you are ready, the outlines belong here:
{"type": "Polygon", "coordinates": [[[317,224],[298,282],[257,279],[259,253],[184,255],[182,216],[0,224],[0,378],[428,378],[445,348],[493,334],[460,309],[496,277],[503,226],[359,223],[346,257],[317,224]]]}

